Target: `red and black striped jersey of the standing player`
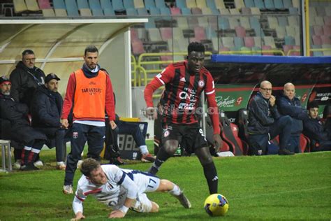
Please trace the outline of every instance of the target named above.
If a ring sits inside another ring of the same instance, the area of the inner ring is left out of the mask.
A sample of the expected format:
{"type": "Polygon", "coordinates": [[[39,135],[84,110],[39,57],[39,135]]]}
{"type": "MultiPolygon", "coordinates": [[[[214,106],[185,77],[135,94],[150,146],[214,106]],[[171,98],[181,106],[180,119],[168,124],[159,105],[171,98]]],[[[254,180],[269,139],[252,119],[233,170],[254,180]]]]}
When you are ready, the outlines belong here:
{"type": "MultiPolygon", "coordinates": [[[[214,80],[212,75],[203,67],[200,73],[190,74],[187,62],[170,64],[156,76],[165,90],[160,104],[163,107],[163,120],[175,124],[193,124],[198,122],[197,108],[200,95],[213,94],[214,80]]],[[[202,113],[200,110],[199,113],[202,113]]]]}

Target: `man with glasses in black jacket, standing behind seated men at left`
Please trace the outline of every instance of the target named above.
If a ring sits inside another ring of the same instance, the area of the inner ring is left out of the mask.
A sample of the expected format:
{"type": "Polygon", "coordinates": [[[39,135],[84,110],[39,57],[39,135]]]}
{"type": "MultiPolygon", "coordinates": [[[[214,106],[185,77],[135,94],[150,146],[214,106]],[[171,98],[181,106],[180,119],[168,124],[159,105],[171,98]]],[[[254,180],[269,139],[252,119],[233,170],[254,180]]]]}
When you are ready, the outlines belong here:
{"type": "Polygon", "coordinates": [[[12,88],[10,95],[20,103],[31,105],[31,99],[38,86],[45,84],[45,73],[35,66],[36,56],[32,50],[22,52],[22,61],[10,74],[12,88]]]}

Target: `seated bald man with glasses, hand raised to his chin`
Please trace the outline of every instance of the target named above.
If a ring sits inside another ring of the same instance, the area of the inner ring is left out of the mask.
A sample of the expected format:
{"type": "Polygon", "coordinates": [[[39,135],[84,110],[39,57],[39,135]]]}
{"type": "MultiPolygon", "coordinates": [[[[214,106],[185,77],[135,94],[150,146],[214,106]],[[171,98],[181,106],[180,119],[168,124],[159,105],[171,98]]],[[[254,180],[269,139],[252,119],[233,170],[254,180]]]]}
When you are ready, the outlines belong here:
{"type": "Polygon", "coordinates": [[[264,80],[258,94],[249,103],[249,152],[251,155],[265,155],[267,143],[279,135],[279,155],[293,155],[288,151],[292,118],[281,116],[272,96],[272,84],[264,80]]]}

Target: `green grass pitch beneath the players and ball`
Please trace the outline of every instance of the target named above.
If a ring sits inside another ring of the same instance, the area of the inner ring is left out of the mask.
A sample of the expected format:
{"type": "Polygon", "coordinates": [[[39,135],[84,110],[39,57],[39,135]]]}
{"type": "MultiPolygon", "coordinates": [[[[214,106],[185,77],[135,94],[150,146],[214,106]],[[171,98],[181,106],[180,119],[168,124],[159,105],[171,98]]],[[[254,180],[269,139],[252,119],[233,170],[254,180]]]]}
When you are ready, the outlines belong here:
{"type": "MultiPolygon", "coordinates": [[[[149,147],[152,142],[149,142],[149,147]]],[[[64,171],[57,171],[53,150],[41,152],[40,171],[0,173],[0,220],[70,220],[73,195],[62,194],[64,171]]],[[[330,220],[331,152],[294,156],[215,157],[219,193],[229,201],[222,218],[209,218],[203,209],[208,196],[203,169],[194,156],[172,157],[160,178],[184,190],[192,208],[185,209],[167,193],[150,193],[159,213],[129,211],[126,220],[330,220]]],[[[126,169],[146,171],[149,163],[128,162],[126,169]]],[[[77,185],[79,171],[75,174],[77,185]]],[[[110,210],[93,197],[84,202],[86,220],[107,220],[110,210]]]]}

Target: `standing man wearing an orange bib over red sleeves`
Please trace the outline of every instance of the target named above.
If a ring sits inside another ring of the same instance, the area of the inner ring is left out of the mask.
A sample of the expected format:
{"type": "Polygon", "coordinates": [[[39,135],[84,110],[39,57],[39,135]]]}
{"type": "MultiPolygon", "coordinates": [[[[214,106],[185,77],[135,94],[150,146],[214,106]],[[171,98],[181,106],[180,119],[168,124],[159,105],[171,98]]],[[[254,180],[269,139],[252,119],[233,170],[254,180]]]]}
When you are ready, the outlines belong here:
{"type": "Polygon", "coordinates": [[[73,108],[73,135],[71,152],[66,161],[64,194],[73,194],[73,177],[84,145],[89,145],[89,156],[100,159],[105,137],[105,112],[109,124],[115,129],[115,102],[112,82],[98,66],[98,48],[87,46],[84,51],[82,69],[71,73],[64,98],[61,124],[68,128],[68,115],[73,108]]]}

